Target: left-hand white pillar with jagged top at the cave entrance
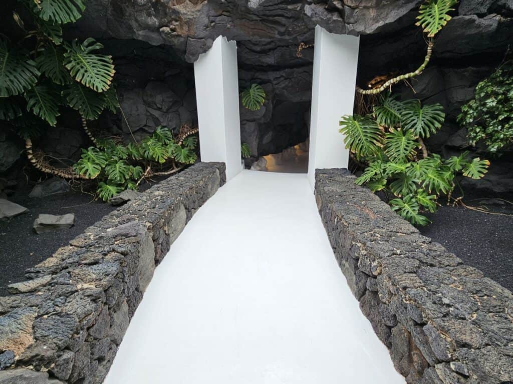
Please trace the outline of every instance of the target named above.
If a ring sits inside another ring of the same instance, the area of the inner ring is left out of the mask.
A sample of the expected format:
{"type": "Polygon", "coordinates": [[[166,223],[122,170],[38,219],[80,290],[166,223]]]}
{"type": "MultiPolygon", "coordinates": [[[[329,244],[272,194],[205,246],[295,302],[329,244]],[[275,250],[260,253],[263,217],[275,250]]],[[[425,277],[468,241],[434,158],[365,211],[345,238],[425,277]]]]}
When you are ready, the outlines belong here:
{"type": "Polygon", "coordinates": [[[226,37],[194,62],[202,161],[226,163],[226,179],[241,172],[237,45],[226,37]]]}

